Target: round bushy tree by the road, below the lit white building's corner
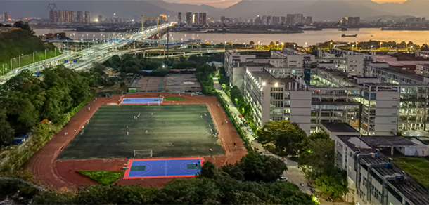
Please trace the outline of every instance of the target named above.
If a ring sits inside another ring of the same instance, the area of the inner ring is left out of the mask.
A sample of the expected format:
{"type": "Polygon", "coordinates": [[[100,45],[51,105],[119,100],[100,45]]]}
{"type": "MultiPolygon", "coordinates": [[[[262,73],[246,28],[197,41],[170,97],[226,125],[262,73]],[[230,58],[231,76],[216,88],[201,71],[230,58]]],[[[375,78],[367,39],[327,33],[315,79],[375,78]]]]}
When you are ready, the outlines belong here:
{"type": "Polygon", "coordinates": [[[264,145],[274,144],[276,154],[295,155],[300,150],[300,143],[307,135],[297,124],[290,121],[268,121],[257,131],[261,143],[264,145]]]}

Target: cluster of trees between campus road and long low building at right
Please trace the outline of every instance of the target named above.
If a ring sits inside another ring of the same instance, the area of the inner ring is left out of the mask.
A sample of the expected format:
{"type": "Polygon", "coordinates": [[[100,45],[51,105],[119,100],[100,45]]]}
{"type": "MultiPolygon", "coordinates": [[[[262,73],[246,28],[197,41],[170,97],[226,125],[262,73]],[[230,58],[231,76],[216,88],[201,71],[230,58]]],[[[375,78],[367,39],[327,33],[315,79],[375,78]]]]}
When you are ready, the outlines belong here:
{"type": "Polygon", "coordinates": [[[347,193],[347,174],[335,167],[335,144],[324,132],[307,137],[298,124],[268,121],[257,131],[267,150],[279,156],[298,155],[298,165],[309,182],[330,197],[347,193]]]}

